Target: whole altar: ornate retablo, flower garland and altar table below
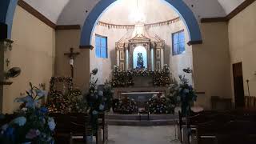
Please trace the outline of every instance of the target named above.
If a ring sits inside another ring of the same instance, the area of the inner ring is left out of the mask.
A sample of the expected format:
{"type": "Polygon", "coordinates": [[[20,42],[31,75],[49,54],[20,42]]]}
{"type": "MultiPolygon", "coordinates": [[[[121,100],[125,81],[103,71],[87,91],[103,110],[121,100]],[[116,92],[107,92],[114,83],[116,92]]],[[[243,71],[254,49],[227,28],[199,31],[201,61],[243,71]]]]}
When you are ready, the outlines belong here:
{"type": "Polygon", "coordinates": [[[171,83],[170,67],[164,63],[165,42],[151,36],[142,22],[133,33],[126,34],[115,45],[117,66],[112,74],[114,97],[125,95],[136,102],[146,102],[153,94],[166,93],[171,83]]]}

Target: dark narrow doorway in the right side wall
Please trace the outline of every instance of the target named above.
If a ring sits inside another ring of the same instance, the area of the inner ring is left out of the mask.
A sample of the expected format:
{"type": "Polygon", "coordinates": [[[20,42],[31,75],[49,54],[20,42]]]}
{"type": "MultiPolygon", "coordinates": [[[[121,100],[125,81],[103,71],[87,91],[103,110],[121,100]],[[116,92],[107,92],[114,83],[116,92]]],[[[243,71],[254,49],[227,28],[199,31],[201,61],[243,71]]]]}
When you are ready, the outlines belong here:
{"type": "Polygon", "coordinates": [[[233,78],[234,78],[234,102],[235,108],[242,108],[245,106],[244,102],[244,87],[242,77],[242,62],[233,64],[233,78]]]}

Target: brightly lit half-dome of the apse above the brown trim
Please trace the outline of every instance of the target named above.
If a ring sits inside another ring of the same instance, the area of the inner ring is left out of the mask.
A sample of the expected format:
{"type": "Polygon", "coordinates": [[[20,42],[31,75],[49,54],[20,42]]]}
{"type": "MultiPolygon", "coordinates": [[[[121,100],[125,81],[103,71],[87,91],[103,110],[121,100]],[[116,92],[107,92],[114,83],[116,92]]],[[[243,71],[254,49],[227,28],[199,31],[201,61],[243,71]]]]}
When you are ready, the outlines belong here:
{"type": "Polygon", "coordinates": [[[137,7],[137,1],[122,0],[105,10],[99,21],[118,25],[134,25],[138,21],[149,24],[174,18],[178,18],[178,14],[165,2],[139,0],[137,7]]]}

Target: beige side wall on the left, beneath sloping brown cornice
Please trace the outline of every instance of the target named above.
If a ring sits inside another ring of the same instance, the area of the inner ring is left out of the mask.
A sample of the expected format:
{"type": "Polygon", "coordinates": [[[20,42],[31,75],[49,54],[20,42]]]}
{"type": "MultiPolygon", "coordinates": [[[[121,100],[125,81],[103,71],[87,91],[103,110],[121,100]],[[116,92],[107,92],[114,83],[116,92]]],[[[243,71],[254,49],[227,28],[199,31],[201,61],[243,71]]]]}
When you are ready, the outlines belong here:
{"type": "Polygon", "coordinates": [[[20,94],[26,94],[29,82],[34,86],[46,84],[49,90],[50,78],[54,75],[55,32],[50,26],[35,18],[22,7],[17,6],[12,28],[13,50],[6,53],[11,67],[20,67],[22,73],[10,86],[4,86],[3,113],[12,113],[21,103],[14,102],[20,94]]]}

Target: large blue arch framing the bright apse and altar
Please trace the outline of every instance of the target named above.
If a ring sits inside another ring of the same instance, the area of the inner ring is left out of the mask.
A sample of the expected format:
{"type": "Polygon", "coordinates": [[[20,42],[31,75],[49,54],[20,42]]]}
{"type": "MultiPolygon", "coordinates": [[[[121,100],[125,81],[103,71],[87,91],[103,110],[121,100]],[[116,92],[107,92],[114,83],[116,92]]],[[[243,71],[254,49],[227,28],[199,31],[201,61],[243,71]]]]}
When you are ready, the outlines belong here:
{"type": "MultiPolygon", "coordinates": [[[[202,35],[200,28],[198,26],[198,21],[194,17],[193,12],[190,10],[186,3],[182,0],[163,0],[170,4],[178,12],[180,17],[186,24],[187,30],[189,31],[190,35],[190,42],[189,44],[198,44],[202,43],[202,35]]],[[[109,6],[111,6],[117,0],[101,0],[98,2],[94,9],[90,11],[90,14],[87,16],[86,21],[82,27],[82,34],[80,40],[81,47],[91,47],[91,36],[94,30],[95,24],[98,22],[98,18],[101,14],[106,10],[109,6]]]]}

